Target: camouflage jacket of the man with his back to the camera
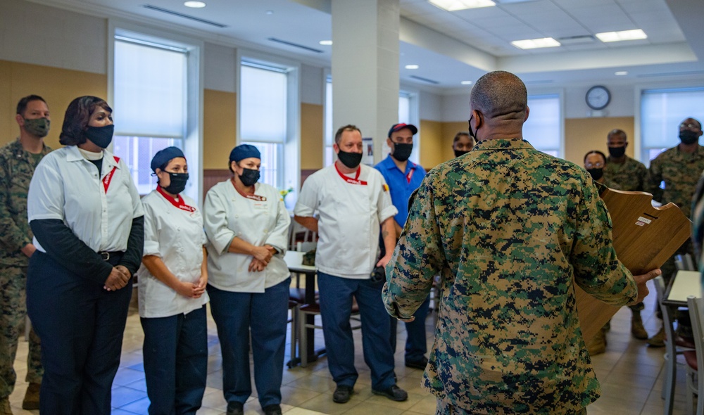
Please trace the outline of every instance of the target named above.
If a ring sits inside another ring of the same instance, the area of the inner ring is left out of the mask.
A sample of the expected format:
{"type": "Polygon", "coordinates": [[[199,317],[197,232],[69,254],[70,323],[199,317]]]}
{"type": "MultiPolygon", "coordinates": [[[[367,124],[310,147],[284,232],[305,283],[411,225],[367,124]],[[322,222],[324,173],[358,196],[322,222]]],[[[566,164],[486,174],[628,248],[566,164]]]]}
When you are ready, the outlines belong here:
{"type": "Polygon", "coordinates": [[[386,266],[389,314],[410,317],[440,275],[424,385],[472,414],[572,414],[601,395],[574,282],[636,298],[584,169],[527,141],[487,140],[435,167],[386,266]]]}

